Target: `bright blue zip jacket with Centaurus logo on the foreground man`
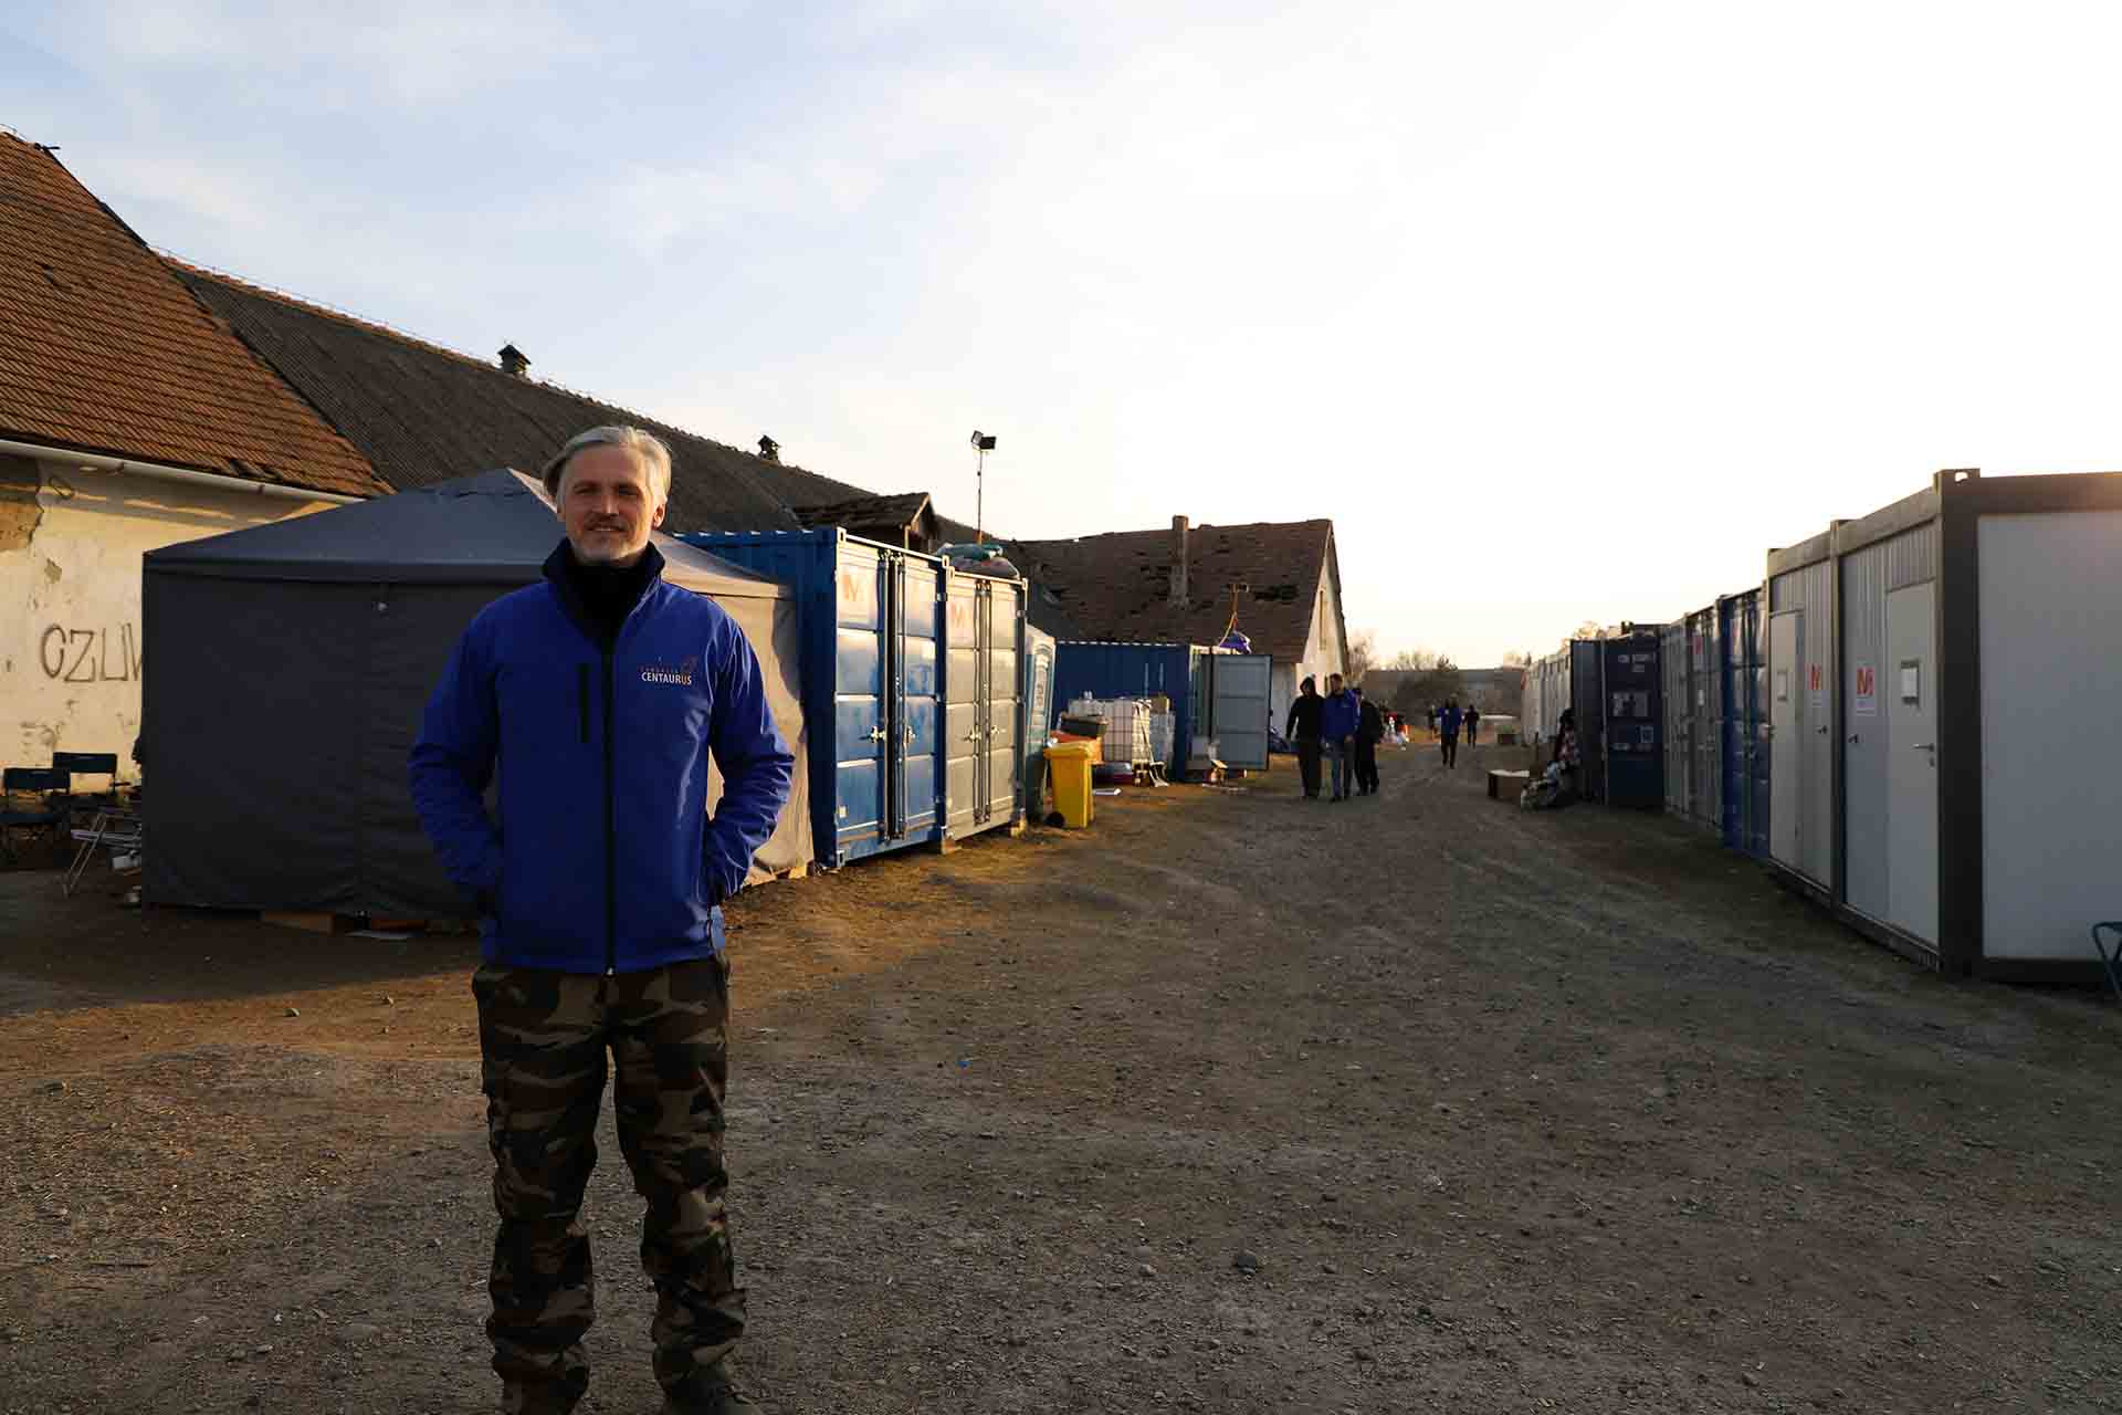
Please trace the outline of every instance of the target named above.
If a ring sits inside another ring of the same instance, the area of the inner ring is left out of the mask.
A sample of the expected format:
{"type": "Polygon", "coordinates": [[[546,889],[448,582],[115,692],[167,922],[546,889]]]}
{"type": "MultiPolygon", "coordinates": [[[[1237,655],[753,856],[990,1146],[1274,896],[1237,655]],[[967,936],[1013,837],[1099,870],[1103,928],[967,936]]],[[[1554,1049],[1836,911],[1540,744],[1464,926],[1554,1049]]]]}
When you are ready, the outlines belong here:
{"type": "Polygon", "coordinates": [[[480,611],[443,668],[410,757],[420,823],[477,899],[488,963],[605,974],[715,955],[721,899],[796,764],[760,660],[719,605],[662,579],[607,647],[564,554],[480,611]],[[482,800],[497,774],[499,821],[482,800]]]}

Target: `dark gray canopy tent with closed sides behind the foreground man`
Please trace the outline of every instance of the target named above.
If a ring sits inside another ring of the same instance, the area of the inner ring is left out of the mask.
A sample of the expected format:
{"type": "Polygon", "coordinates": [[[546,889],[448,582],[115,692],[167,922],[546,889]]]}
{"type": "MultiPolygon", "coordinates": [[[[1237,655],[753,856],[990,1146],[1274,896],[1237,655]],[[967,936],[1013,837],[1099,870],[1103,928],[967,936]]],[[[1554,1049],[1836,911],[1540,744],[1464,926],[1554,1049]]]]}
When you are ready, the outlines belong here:
{"type": "MultiPolygon", "coordinates": [[[[543,488],[486,471],[149,552],[149,904],[420,919],[465,912],[405,753],[441,666],[560,543],[543,488]]],[[[751,878],[811,863],[796,598],[658,535],[664,579],[745,630],[796,781],[751,878]]],[[[721,796],[709,779],[709,802],[721,796]]]]}

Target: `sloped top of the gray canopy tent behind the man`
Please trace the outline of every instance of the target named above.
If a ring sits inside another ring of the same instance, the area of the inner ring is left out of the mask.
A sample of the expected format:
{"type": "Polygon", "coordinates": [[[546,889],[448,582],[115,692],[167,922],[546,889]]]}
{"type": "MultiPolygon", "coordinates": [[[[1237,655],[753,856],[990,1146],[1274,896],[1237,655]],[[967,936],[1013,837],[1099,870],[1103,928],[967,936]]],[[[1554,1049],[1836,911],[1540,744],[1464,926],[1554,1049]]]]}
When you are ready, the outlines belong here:
{"type": "MultiPolygon", "coordinates": [[[[482,471],[267,526],[149,552],[146,573],[308,583],[533,583],[560,541],[545,488],[482,471]]],[[[700,594],[789,598],[785,586],[666,535],[664,579],[700,594]]]]}

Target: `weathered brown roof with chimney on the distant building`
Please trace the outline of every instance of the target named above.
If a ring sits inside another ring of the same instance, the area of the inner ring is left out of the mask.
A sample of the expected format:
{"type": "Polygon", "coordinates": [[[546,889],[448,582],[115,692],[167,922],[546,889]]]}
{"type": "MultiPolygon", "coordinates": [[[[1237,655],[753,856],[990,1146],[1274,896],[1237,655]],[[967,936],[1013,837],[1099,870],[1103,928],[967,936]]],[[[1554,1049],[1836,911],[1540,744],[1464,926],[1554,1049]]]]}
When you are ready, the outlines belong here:
{"type": "MultiPolygon", "coordinates": [[[[1010,541],[1010,558],[1059,600],[1069,630],[1116,643],[1220,643],[1231,622],[1254,651],[1297,662],[1311,641],[1322,577],[1339,573],[1333,522],[1193,526],[1186,537],[1186,602],[1171,602],[1171,532],[1118,530],[1076,541],[1010,541]]],[[[1339,630],[1339,626],[1335,626],[1339,630]]]]}

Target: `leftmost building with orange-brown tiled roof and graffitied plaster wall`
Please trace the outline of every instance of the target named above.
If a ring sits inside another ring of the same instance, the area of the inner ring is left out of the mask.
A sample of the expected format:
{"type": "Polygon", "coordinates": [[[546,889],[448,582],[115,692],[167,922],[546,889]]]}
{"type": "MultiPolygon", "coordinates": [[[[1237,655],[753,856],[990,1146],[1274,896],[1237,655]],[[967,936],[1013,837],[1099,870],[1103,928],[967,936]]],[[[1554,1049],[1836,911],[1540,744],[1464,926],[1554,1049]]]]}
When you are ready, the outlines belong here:
{"type": "Polygon", "coordinates": [[[140,558],[386,492],[45,146],[0,129],[0,766],[140,732],[140,558]]]}

